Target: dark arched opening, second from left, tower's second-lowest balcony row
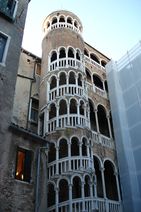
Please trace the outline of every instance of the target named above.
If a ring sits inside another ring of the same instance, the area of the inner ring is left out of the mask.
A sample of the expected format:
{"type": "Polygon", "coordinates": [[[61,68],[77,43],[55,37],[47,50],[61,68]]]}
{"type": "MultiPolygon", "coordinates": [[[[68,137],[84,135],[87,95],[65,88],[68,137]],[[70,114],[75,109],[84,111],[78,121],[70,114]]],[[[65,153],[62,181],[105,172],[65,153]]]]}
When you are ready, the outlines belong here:
{"type": "Polygon", "coordinates": [[[59,159],[68,157],[68,144],[66,139],[59,142],[59,159]]]}

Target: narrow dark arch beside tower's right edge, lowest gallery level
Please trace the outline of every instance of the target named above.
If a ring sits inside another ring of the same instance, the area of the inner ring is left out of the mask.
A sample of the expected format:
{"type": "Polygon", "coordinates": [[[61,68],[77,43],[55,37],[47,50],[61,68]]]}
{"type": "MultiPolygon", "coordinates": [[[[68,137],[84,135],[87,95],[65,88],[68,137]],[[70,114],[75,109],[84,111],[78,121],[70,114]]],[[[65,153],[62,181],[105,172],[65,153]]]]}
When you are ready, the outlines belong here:
{"type": "Polygon", "coordinates": [[[96,187],[97,187],[97,196],[103,197],[103,185],[102,185],[102,175],[101,175],[101,166],[100,161],[96,156],[93,156],[94,161],[94,169],[95,169],[95,175],[96,175],[96,187]]]}

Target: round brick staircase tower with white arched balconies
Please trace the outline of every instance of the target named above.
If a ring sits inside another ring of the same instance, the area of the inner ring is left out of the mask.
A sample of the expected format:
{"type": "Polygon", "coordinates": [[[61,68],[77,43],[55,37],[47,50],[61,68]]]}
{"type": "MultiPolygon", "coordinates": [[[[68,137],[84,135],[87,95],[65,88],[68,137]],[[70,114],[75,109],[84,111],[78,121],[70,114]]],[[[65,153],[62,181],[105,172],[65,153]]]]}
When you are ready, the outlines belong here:
{"type": "Polygon", "coordinates": [[[43,23],[39,128],[50,143],[48,211],[53,212],[106,207],[97,202],[82,30],[79,18],[63,10],[43,23]]]}

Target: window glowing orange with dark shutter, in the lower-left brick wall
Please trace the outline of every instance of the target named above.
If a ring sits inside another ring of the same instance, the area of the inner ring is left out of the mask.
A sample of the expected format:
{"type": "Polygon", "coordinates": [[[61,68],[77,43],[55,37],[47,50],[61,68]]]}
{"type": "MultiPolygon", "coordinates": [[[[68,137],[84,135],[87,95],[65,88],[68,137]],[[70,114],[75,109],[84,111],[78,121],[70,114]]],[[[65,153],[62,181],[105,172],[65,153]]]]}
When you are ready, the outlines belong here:
{"type": "Polygon", "coordinates": [[[25,150],[18,147],[15,173],[15,178],[17,180],[30,182],[31,156],[32,152],[30,150],[25,150]]]}

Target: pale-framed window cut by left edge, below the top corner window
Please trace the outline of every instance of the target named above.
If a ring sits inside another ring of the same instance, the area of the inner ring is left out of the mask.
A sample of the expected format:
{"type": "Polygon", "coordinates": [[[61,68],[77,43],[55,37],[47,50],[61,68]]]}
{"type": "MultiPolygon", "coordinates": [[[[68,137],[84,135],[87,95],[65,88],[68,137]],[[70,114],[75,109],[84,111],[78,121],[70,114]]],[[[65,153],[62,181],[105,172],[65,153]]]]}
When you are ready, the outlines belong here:
{"type": "Polygon", "coordinates": [[[4,60],[4,52],[5,52],[7,40],[8,40],[8,37],[0,33],[0,63],[2,63],[4,60]]]}

